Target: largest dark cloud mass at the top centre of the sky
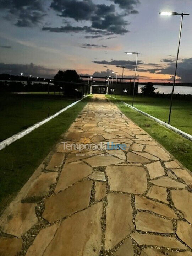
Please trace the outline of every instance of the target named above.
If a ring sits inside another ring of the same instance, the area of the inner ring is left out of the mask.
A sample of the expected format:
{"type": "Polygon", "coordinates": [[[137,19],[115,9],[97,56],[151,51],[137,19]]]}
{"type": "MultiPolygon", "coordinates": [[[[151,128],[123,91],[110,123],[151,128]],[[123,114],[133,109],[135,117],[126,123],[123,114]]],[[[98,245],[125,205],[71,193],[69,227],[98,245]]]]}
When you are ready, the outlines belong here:
{"type": "MultiPolygon", "coordinates": [[[[71,18],[75,21],[90,21],[93,30],[101,30],[100,34],[125,34],[129,32],[127,25],[129,24],[125,20],[127,13],[137,11],[133,6],[138,4],[138,0],[123,0],[114,1],[116,5],[123,7],[126,10],[125,14],[118,14],[115,9],[115,5],[96,4],[96,1],[92,0],[53,0],[50,7],[58,12],[59,16],[63,18],[71,18]],[[75,11],[74,11],[75,10],[75,11]]],[[[83,27],[82,27],[83,28],[83,27]]],[[[55,31],[55,28],[50,28],[50,31],[55,31]]],[[[57,31],[59,28],[57,28],[57,31]]],[[[95,33],[85,30],[86,33],[95,33]]],[[[98,32],[99,33],[99,32],[98,32]]]]}

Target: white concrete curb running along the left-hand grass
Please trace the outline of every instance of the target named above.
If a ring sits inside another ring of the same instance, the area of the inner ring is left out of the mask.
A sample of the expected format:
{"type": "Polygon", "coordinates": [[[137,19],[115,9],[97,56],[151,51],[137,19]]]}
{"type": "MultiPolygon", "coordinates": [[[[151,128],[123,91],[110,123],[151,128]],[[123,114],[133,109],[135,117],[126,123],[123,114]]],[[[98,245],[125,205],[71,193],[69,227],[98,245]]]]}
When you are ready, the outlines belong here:
{"type": "MultiPolygon", "coordinates": [[[[88,97],[89,95],[85,96],[84,98],[88,97]]],[[[53,114],[52,116],[43,119],[43,121],[40,121],[32,126],[30,126],[29,128],[16,133],[15,135],[3,140],[2,142],[0,142],[0,150],[4,149],[6,146],[9,146],[11,143],[15,142],[18,139],[21,139],[22,137],[24,137],[25,135],[31,133],[33,130],[37,129],[38,127],[42,126],[43,124],[49,122],[51,119],[55,118],[56,116],[59,116],[59,114],[61,114],[62,112],[68,110],[68,108],[71,108],[72,106],[76,105],[78,102],[82,101],[84,98],[81,98],[78,101],[73,102],[72,104],[68,105],[65,108],[62,108],[60,111],[56,112],[55,114],[53,114]]]]}

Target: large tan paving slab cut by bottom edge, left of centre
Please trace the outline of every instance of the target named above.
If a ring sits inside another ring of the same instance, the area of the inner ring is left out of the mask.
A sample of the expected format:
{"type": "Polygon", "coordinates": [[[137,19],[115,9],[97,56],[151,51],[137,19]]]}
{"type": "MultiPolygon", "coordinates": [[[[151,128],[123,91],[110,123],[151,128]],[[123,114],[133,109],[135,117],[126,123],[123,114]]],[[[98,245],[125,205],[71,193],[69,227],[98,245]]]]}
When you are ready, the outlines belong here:
{"type": "Polygon", "coordinates": [[[98,256],[102,208],[102,202],[97,203],[64,220],[42,256],[98,256]]]}

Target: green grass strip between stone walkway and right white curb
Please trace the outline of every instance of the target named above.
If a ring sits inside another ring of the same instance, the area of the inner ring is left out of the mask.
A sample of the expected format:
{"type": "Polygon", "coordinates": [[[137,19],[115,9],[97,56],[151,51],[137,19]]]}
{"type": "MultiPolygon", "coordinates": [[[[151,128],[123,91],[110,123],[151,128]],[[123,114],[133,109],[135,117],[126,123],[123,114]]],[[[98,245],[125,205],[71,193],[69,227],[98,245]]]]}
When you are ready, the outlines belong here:
{"type": "Polygon", "coordinates": [[[177,160],[192,171],[192,142],[172,132],[152,119],[126,107],[120,101],[109,96],[109,100],[115,103],[119,109],[139,127],[150,134],[157,142],[166,148],[177,160]]]}

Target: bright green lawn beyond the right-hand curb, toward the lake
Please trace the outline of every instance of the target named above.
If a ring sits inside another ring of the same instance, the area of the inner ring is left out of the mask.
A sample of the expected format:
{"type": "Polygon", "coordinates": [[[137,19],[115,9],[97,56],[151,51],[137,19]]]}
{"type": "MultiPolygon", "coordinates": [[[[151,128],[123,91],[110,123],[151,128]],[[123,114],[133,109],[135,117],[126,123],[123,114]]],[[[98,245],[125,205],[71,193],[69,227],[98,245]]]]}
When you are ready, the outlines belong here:
{"type": "MultiPolygon", "coordinates": [[[[120,95],[116,95],[116,98],[120,100],[120,95]]],[[[132,106],[132,96],[124,95],[122,96],[122,101],[132,106]]],[[[170,99],[168,98],[153,98],[137,95],[135,97],[134,107],[164,122],[168,122],[170,108],[170,99]]],[[[192,135],[192,102],[174,100],[170,124],[192,135]]]]}

